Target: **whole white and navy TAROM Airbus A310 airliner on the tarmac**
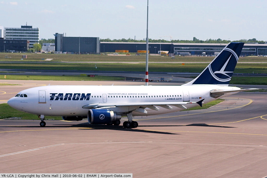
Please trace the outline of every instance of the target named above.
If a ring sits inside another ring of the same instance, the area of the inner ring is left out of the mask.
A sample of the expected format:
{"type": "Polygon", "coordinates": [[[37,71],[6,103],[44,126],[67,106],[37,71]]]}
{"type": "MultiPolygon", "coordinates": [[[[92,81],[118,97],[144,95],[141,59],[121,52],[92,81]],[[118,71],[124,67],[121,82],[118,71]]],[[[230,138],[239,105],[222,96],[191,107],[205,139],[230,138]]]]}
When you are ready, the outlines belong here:
{"type": "Polygon", "coordinates": [[[45,116],[64,120],[88,118],[90,124],[136,128],[133,116],[163,114],[192,108],[240,89],[228,86],[244,43],[229,43],[194,80],[181,86],[39,86],[19,92],[8,100],[18,110],[37,114],[45,126],[45,116]]]}

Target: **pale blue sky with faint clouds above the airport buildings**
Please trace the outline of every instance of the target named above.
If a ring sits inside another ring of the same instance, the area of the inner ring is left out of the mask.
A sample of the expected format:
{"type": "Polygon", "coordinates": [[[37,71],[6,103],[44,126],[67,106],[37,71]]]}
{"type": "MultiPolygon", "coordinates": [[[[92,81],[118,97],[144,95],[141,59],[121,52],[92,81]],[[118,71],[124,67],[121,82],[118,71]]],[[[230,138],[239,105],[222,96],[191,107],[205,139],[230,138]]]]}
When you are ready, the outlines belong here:
{"type": "MultiPolygon", "coordinates": [[[[149,0],[148,38],[267,41],[266,0],[149,0]]],[[[147,0],[0,0],[0,25],[100,39],[146,38],[147,0]]]]}

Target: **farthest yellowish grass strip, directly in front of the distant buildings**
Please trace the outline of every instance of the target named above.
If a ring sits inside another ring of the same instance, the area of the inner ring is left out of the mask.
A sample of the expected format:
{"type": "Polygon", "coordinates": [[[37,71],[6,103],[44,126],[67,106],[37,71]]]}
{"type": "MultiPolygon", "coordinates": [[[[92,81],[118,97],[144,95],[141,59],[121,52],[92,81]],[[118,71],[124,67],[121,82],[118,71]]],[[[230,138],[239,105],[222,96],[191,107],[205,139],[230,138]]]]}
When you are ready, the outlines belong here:
{"type": "MultiPolygon", "coordinates": [[[[109,53],[107,53],[109,54],[109,53]]],[[[111,53],[112,54],[112,53],[111,53]]],[[[0,61],[22,61],[22,55],[27,55],[27,59],[23,61],[44,61],[45,59],[53,59],[52,61],[112,61],[112,62],[145,62],[146,55],[141,54],[135,56],[131,53],[131,56],[108,56],[99,54],[35,54],[35,53],[0,53],[0,61]],[[5,58],[11,57],[11,58],[5,58]],[[42,60],[44,59],[44,60],[42,60]]],[[[175,56],[171,58],[168,56],[149,56],[150,62],[210,62],[214,57],[196,57],[196,56],[175,56]]],[[[239,62],[266,62],[267,57],[247,56],[240,57],[239,62]]]]}

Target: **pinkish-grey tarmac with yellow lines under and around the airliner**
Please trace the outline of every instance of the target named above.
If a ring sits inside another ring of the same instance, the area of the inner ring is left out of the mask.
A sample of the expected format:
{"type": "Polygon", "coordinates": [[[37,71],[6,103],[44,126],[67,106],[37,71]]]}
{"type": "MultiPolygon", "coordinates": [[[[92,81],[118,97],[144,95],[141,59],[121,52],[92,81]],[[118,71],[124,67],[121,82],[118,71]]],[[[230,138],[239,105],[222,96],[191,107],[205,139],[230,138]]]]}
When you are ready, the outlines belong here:
{"type": "MultiPolygon", "coordinates": [[[[51,81],[42,82],[1,87],[0,97],[51,81]]],[[[205,110],[136,117],[135,129],[87,120],[48,120],[45,128],[37,120],[0,120],[0,172],[266,177],[266,93],[224,99],[205,110]]]]}

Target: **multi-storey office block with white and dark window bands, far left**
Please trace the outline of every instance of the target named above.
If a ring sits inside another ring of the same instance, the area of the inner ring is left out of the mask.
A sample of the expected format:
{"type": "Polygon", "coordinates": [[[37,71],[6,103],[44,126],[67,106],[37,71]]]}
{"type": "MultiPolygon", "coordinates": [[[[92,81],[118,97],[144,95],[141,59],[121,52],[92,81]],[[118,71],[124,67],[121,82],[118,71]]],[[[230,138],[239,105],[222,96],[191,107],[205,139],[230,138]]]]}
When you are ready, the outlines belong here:
{"type": "Polygon", "coordinates": [[[29,40],[29,48],[33,48],[34,43],[39,44],[39,28],[32,26],[21,26],[21,28],[6,28],[4,39],[7,40],[29,40]]]}

